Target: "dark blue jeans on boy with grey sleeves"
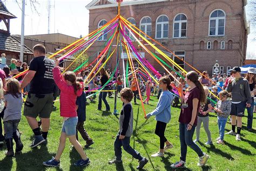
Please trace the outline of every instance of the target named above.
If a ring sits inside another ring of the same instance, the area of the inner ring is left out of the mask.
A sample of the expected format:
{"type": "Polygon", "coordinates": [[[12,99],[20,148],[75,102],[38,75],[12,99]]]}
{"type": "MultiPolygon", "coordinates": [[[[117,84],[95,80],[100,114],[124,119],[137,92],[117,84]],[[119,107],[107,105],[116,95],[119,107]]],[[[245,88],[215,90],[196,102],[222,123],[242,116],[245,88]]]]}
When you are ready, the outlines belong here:
{"type": "Polygon", "coordinates": [[[120,140],[119,136],[120,136],[120,132],[118,132],[117,138],[114,141],[114,155],[116,155],[117,160],[122,160],[122,148],[121,148],[122,146],[127,153],[133,156],[133,158],[142,160],[143,157],[139,154],[139,152],[137,152],[135,149],[133,149],[130,146],[131,137],[125,137],[124,139],[120,140]]]}

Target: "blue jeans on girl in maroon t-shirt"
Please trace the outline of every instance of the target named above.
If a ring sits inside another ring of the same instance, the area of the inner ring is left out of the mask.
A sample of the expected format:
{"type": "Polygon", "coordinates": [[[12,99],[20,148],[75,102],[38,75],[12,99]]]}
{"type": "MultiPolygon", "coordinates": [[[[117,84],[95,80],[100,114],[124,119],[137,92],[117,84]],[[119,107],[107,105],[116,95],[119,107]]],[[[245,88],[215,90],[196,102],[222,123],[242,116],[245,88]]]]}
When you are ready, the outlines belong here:
{"type": "Polygon", "coordinates": [[[196,126],[193,125],[191,130],[187,130],[188,124],[181,124],[179,123],[179,140],[180,140],[180,160],[186,161],[186,155],[187,155],[187,146],[192,148],[193,151],[195,151],[198,156],[203,156],[204,153],[201,150],[200,147],[196,143],[193,142],[193,135],[194,130],[196,129],[196,126]]]}

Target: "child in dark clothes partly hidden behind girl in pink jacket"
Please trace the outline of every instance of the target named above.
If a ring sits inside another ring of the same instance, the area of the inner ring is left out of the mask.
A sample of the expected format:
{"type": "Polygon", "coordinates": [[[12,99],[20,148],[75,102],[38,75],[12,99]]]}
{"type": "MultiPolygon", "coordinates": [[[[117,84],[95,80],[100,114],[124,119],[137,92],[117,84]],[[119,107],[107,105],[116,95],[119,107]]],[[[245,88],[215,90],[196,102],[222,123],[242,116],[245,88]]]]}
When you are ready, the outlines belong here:
{"type": "MultiPolygon", "coordinates": [[[[83,79],[82,78],[77,79],[77,81],[80,82],[81,84],[83,84],[83,79]]],[[[85,115],[85,112],[86,112],[86,94],[85,94],[84,91],[82,92],[81,96],[77,97],[76,105],[77,105],[77,117],[78,117],[76,138],[78,140],[78,131],[79,131],[82,138],[86,141],[85,148],[88,148],[94,142],[92,141],[90,136],[87,134],[86,130],[84,129],[84,122],[85,122],[85,119],[86,119],[86,115],[85,115]]]]}

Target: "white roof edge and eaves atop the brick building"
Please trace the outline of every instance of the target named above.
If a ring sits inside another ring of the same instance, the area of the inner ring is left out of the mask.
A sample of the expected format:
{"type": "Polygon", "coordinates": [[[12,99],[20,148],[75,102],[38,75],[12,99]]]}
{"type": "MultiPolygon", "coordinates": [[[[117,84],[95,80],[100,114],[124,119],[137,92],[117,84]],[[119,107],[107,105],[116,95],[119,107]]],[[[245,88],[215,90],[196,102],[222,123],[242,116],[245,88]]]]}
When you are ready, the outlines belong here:
{"type": "MultiPolygon", "coordinates": [[[[140,4],[149,4],[149,3],[158,3],[158,2],[164,2],[164,1],[173,1],[173,0],[124,0],[121,3],[121,6],[129,6],[129,5],[140,5],[140,4]]],[[[93,10],[93,9],[99,9],[99,8],[110,8],[117,6],[116,0],[108,0],[107,4],[101,4],[98,3],[100,0],[92,0],[88,5],[85,6],[87,10],[93,10]]]]}

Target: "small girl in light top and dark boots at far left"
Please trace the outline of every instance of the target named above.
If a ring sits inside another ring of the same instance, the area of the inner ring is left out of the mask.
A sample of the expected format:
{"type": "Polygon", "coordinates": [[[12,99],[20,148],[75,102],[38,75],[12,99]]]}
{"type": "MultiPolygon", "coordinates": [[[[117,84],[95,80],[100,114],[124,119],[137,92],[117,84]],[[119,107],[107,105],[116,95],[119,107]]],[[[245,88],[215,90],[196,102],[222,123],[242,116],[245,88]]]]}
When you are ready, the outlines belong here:
{"type": "Polygon", "coordinates": [[[21,152],[23,149],[23,144],[20,137],[17,134],[17,127],[19,121],[21,120],[21,109],[23,98],[22,94],[19,92],[19,82],[16,79],[9,79],[6,83],[6,95],[4,95],[4,102],[6,109],[4,111],[4,132],[5,132],[5,142],[7,147],[7,156],[14,156],[14,139],[16,143],[15,152],[21,152]]]}

